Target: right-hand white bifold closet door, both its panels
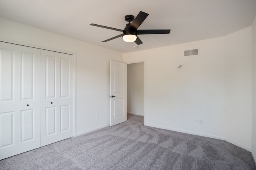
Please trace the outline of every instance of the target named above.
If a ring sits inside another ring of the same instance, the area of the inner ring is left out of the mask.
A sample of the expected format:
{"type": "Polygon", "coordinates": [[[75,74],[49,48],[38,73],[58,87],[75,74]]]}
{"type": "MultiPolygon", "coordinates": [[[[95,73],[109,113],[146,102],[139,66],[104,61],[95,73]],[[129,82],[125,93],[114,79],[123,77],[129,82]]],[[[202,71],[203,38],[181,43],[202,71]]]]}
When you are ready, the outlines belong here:
{"type": "Polygon", "coordinates": [[[73,137],[73,55],[41,50],[41,147],[73,137]]]}

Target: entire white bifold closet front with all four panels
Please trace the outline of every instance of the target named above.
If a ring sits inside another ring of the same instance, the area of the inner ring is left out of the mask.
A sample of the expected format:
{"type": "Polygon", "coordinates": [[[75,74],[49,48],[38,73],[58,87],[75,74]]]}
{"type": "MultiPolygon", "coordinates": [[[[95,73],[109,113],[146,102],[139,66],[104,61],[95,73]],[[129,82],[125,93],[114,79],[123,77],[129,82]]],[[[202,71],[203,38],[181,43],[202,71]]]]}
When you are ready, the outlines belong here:
{"type": "Polygon", "coordinates": [[[0,42],[0,160],[73,137],[73,55],[0,42]]]}

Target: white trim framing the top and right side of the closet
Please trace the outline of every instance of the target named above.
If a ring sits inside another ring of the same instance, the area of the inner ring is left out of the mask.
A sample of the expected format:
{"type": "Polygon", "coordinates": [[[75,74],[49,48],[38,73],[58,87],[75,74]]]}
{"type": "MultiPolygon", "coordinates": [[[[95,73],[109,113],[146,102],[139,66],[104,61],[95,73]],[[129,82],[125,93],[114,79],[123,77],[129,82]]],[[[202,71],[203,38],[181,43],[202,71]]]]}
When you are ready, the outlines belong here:
{"type": "Polygon", "coordinates": [[[27,47],[33,47],[33,48],[36,48],[36,49],[43,49],[43,50],[48,50],[48,51],[55,51],[55,52],[58,52],[58,53],[65,53],[65,54],[70,54],[70,55],[73,55],[73,104],[74,104],[74,107],[73,107],[73,136],[76,137],[76,53],[74,52],[71,52],[71,51],[65,51],[65,50],[60,50],[60,49],[54,49],[54,48],[51,48],[51,47],[45,47],[45,46],[42,46],[42,45],[36,45],[36,44],[30,44],[30,43],[25,43],[25,42],[22,42],[22,41],[16,41],[16,40],[13,40],[13,39],[6,39],[6,38],[2,38],[0,37],[0,41],[4,42],[4,43],[11,43],[11,44],[16,44],[16,45],[21,45],[21,46],[27,46],[27,47]]]}

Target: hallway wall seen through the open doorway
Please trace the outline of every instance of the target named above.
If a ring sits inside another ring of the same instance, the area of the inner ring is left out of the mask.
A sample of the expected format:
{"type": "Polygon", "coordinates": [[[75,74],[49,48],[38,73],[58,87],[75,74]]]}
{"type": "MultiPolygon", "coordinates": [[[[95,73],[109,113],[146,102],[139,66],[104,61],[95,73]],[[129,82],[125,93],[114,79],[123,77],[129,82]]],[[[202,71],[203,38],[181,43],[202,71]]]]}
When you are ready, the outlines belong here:
{"type": "Polygon", "coordinates": [[[127,64],[127,112],[144,115],[144,63],[127,64]]]}

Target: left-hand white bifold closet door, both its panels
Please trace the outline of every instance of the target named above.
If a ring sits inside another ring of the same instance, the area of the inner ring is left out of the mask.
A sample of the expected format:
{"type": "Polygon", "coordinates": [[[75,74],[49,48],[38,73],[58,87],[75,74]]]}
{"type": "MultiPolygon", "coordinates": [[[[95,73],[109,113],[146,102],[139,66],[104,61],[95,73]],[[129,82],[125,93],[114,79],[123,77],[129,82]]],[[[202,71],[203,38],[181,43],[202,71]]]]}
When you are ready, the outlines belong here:
{"type": "Polygon", "coordinates": [[[40,147],[40,49],[0,42],[0,159],[40,147]]]}

